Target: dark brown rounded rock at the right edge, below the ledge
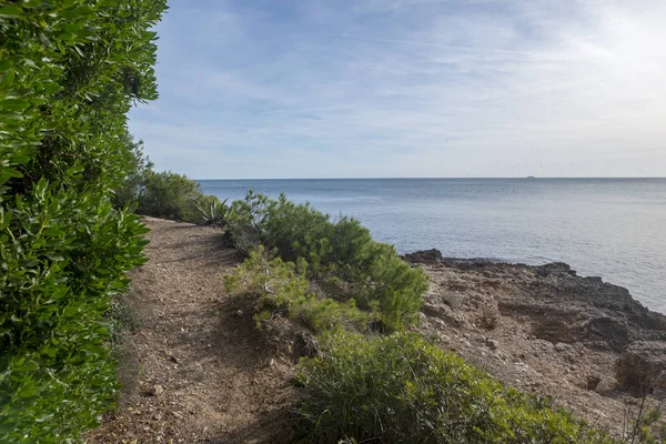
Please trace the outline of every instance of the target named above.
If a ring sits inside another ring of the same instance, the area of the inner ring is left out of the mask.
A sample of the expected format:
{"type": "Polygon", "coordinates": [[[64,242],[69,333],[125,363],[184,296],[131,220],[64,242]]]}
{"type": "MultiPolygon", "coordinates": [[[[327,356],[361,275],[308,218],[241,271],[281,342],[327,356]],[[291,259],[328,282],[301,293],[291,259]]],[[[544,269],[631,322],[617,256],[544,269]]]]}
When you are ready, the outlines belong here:
{"type": "Polygon", "coordinates": [[[618,387],[636,396],[666,390],[666,344],[634,342],[615,362],[618,387]]]}

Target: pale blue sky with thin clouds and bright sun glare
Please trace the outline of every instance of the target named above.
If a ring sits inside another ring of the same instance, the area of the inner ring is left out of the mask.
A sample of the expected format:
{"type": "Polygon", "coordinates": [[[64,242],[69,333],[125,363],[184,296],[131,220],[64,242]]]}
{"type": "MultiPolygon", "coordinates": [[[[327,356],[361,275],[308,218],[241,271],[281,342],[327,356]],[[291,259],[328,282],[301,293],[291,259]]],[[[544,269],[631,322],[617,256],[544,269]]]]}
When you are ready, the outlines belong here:
{"type": "Polygon", "coordinates": [[[664,0],[172,0],[130,113],[194,179],[666,175],[664,0]]]}

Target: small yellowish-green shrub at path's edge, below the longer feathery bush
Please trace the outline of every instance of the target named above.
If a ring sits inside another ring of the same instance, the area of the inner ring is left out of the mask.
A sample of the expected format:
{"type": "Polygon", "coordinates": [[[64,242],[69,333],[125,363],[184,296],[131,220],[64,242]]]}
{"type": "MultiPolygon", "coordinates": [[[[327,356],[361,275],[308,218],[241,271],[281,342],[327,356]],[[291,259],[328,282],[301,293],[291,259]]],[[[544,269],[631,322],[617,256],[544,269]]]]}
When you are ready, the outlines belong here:
{"type": "Polygon", "coordinates": [[[289,316],[315,333],[340,327],[364,331],[367,315],[356,309],[354,300],[341,303],[309,291],[310,282],[302,274],[305,266],[304,261],[296,266],[280,258],[271,259],[260,246],[226,276],[226,289],[256,299],[254,319],[260,327],[275,316],[289,316]]]}

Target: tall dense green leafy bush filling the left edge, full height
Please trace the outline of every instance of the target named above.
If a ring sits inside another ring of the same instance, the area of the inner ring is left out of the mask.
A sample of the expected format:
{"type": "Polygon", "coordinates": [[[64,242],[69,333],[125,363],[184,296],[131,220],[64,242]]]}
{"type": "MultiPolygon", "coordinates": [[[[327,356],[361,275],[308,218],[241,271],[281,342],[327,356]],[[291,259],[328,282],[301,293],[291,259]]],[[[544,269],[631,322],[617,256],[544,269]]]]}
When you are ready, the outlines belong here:
{"type": "Polygon", "coordinates": [[[114,397],[105,321],[145,232],[112,190],[157,98],[162,0],[0,2],[0,442],[64,443],[114,397]]]}

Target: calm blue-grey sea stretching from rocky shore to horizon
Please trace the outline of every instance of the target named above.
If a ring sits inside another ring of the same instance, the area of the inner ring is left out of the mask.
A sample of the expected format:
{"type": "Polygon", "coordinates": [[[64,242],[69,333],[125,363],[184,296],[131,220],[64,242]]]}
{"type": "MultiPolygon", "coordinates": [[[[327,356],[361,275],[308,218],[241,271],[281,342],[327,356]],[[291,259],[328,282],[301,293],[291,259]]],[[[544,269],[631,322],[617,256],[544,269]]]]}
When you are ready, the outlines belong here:
{"type": "Polygon", "coordinates": [[[666,313],[666,179],[206,180],[204,192],[249,189],[352,215],[404,252],[543,264],[629,289],[666,313]]]}

